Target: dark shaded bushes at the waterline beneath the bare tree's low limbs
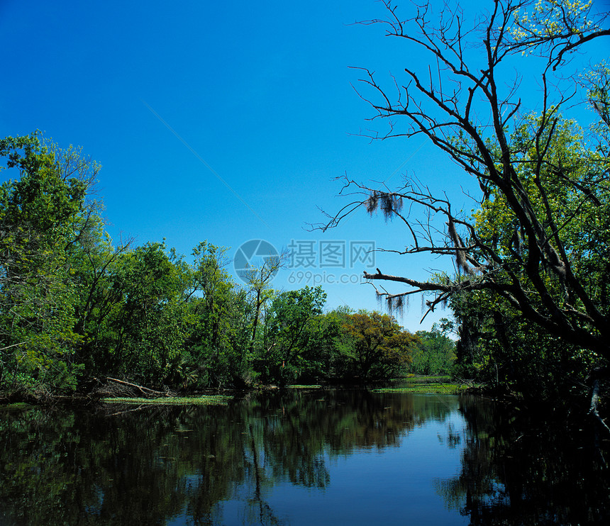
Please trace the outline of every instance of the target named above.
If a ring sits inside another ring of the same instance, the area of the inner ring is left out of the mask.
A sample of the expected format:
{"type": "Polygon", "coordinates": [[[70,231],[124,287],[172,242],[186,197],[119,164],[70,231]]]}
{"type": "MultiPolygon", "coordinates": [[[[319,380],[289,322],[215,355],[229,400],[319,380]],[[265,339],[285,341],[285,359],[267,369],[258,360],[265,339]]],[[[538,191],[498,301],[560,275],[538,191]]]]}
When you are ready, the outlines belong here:
{"type": "Polygon", "coordinates": [[[455,298],[452,308],[462,331],[454,376],[534,406],[550,401],[558,407],[586,393],[589,371],[599,364],[593,352],[533,326],[486,293],[455,298]]]}

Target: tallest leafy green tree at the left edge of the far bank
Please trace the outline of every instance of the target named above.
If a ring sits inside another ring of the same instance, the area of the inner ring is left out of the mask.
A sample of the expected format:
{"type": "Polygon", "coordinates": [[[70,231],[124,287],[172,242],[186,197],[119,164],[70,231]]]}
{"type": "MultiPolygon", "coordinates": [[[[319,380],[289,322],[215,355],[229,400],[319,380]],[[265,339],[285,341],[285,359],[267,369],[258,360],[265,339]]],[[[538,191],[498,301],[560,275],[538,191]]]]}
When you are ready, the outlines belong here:
{"type": "Polygon", "coordinates": [[[0,186],[0,382],[71,390],[82,369],[71,258],[95,216],[97,167],[38,133],[0,140],[0,157],[16,176],[0,186]]]}

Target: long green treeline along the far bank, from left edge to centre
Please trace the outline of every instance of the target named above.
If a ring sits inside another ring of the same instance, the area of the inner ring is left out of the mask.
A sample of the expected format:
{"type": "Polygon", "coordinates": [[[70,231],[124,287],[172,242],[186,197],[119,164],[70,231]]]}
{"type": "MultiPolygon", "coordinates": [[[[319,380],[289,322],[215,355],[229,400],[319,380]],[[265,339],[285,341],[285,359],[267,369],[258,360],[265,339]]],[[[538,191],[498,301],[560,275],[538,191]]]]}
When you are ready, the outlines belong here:
{"type": "Polygon", "coordinates": [[[33,134],[0,140],[0,156],[11,177],[0,186],[5,393],[86,390],[106,376],[184,389],[370,381],[440,371],[442,352],[425,348],[443,338],[450,362],[438,330],[325,312],[320,287],[272,289],[278,259],[239,286],[226,249],[209,242],[189,261],[164,242],[113,242],[92,198],[99,166],[80,150],[33,134]]]}

